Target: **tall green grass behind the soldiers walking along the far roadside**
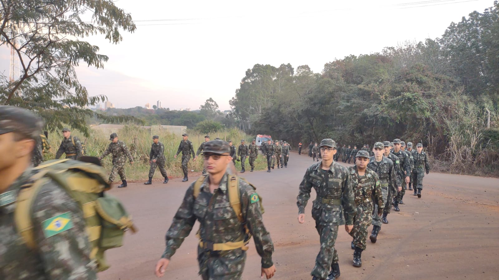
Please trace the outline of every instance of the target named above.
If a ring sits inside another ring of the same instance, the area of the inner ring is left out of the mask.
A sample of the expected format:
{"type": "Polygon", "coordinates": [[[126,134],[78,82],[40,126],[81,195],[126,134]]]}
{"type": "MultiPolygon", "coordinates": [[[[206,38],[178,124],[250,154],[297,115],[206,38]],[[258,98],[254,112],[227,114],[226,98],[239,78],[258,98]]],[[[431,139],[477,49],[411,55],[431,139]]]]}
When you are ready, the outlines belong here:
{"type": "MultiPolygon", "coordinates": [[[[127,180],[129,181],[142,181],[148,179],[149,174],[149,152],[151,150],[152,137],[154,135],[159,136],[160,142],[165,145],[165,157],[166,157],[166,171],[169,177],[181,177],[182,173],[182,159],[181,154],[174,158],[174,155],[177,153],[177,149],[179,147],[180,142],[182,141],[181,136],[177,136],[167,132],[166,130],[161,129],[144,129],[138,126],[130,125],[126,126],[123,129],[117,130],[118,139],[124,141],[133,158],[134,164],[130,165],[129,162],[125,165],[125,174],[127,176],[127,180]]],[[[190,131],[189,140],[193,142],[194,152],[197,152],[199,145],[205,141],[205,134],[197,133],[190,131]]],[[[104,133],[98,129],[90,131],[90,137],[85,138],[81,134],[76,131],[71,132],[72,136],[77,136],[80,138],[82,142],[85,142],[87,147],[87,155],[90,156],[99,156],[109,145],[109,134],[104,133]]],[[[247,144],[251,142],[252,137],[246,135],[242,131],[232,129],[232,130],[223,130],[210,134],[210,139],[214,140],[215,138],[220,138],[222,140],[233,140],[233,144],[236,145],[236,149],[241,143],[242,139],[245,139],[247,144]]],[[[63,136],[61,133],[59,134],[49,134],[48,140],[51,144],[50,152],[45,154],[45,160],[55,158],[55,152],[59,147],[59,144],[62,140],[63,136]]],[[[62,156],[64,157],[64,155],[62,156]]],[[[111,171],[112,167],[112,157],[111,155],[106,156],[102,159],[103,166],[107,169],[108,173],[111,171]]],[[[246,159],[246,167],[249,169],[250,163],[248,162],[248,158],[246,159]]],[[[196,161],[192,158],[188,164],[189,175],[198,175],[197,172],[203,171],[203,159],[201,156],[198,157],[196,161]],[[192,171],[194,170],[194,171],[192,171]]],[[[255,161],[255,170],[263,170],[266,168],[266,159],[258,155],[258,158],[255,161]]],[[[241,170],[241,162],[236,161],[236,169],[241,170]]],[[[156,169],[154,173],[154,179],[163,179],[161,172],[159,169],[156,169]]],[[[116,179],[119,180],[119,177],[116,179]]]]}

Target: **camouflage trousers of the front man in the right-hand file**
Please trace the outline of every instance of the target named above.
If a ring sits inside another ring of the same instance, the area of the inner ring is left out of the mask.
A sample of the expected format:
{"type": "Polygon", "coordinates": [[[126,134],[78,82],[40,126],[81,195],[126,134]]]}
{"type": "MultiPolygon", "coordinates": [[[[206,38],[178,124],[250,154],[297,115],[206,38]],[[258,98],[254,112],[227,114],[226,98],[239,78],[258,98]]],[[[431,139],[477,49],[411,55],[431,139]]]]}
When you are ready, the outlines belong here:
{"type": "Polygon", "coordinates": [[[338,236],[338,226],[322,226],[315,221],[315,228],[319,233],[320,250],[315,258],[315,266],[312,269],[312,276],[326,279],[332,265],[338,263],[338,251],[334,249],[334,243],[338,236]]]}

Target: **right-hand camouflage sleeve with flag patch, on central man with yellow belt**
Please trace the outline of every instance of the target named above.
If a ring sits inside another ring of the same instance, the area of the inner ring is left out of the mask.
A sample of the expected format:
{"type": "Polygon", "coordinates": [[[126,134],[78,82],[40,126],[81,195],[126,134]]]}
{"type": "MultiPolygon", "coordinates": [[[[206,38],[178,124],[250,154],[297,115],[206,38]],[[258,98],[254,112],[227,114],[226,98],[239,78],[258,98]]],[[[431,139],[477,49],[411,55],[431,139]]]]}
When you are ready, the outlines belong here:
{"type": "Polygon", "coordinates": [[[253,196],[257,197],[257,195],[251,186],[241,179],[239,182],[242,189],[244,189],[241,194],[242,214],[246,217],[248,229],[253,236],[256,252],[258,252],[258,255],[261,257],[261,267],[267,269],[273,266],[272,253],[274,252],[274,245],[272,239],[270,239],[270,234],[263,225],[260,212],[260,201],[259,199],[253,198],[253,196]],[[243,188],[245,185],[246,187],[243,188]]]}

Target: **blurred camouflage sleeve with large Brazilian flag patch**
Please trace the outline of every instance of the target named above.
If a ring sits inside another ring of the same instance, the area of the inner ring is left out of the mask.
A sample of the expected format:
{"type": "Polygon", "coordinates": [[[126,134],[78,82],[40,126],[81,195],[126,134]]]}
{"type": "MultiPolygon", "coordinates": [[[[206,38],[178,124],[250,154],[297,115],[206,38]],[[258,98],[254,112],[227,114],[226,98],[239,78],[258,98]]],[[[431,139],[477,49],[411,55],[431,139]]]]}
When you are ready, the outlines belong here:
{"type": "Polygon", "coordinates": [[[37,254],[46,278],[97,279],[83,212],[66,191],[49,181],[41,187],[32,211],[37,254]]]}

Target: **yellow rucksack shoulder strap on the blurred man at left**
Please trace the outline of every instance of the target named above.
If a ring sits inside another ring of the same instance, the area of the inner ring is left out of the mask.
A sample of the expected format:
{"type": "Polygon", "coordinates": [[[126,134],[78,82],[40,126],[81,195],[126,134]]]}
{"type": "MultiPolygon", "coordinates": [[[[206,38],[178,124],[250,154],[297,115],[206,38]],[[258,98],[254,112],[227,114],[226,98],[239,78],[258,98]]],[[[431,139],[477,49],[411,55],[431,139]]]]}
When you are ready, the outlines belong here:
{"type": "Polygon", "coordinates": [[[42,177],[46,171],[40,171],[31,177],[34,180],[32,184],[26,184],[21,187],[17,196],[17,205],[14,210],[14,224],[17,232],[22,237],[26,246],[34,250],[36,242],[34,241],[33,221],[31,220],[31,206],[35,197],[38,195],[41,186],[45,182],[42,177]]]}

